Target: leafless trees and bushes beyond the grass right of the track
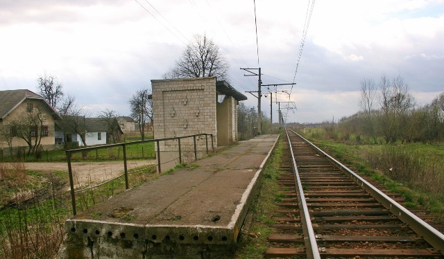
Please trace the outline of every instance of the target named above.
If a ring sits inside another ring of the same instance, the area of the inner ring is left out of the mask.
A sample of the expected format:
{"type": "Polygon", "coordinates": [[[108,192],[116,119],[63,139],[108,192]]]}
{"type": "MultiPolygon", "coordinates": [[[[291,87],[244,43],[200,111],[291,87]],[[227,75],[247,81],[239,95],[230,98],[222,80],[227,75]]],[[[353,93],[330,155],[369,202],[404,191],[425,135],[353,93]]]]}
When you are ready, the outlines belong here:
{"type": "Polygon", "coordinates": [[[332,136],[347,140],[353,135],[357,141],[370,143],[444,140],[444,92],[418,107],[401,75],[382,75],[379,82],[372,78],[361,80],[359,107],[356,114],[339,120],[337,132],[341,134],[330,129],[332,136]]]}

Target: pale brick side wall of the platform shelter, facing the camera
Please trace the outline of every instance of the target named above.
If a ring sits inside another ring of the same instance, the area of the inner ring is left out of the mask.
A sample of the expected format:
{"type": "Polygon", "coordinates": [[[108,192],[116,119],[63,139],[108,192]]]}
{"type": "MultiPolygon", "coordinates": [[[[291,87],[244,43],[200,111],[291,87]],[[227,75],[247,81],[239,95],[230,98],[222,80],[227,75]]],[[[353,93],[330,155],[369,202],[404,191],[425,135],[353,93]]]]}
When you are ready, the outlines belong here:
{"type": "MultiPolygon", "coordinates": [[[[216,147],[216,78],[151,80],[151,86],[155,139],[207,133],[213,134],[216,147]]],[[[180,144],[182,152],[194,150],[192,138],[182,139],[180,144]]],[[[200,153],[204,152],[205,137],[196,145],[200,153]]],[[[169,159],[175,159],[178,141],[161,143],[160,151],[170,152],[169,159]]]]}

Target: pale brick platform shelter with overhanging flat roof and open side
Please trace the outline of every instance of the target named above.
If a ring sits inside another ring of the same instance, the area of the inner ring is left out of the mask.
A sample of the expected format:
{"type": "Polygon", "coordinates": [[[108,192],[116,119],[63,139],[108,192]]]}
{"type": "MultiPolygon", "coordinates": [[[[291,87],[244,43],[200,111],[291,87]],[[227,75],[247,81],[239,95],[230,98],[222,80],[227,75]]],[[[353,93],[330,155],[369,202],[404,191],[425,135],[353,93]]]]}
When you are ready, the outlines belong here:
{"type": "MultiPolygon", "coordinates": [[[[214,147],[237,143],[237,102],[246,96],[216,78],[151,80],[154,137],[164,139],[193,134],[213,134],[214,147]]],[[[211,148],[211,139],[208,139],[211,148]]],[[[205,137],[197,140],[200,156],[205,137]]],[[[182,139],[182,160],[194,159],[193,139],[182,139]]],[[[161,170],[178,163],[178,141],[160,143],[161,170]]]]}

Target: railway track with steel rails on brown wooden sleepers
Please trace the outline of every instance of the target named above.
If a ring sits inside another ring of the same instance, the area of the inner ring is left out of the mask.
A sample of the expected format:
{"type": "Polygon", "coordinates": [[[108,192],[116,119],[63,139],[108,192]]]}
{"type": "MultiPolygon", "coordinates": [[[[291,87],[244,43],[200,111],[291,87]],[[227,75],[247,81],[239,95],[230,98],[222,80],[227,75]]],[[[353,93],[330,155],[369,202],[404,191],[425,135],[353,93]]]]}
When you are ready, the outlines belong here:
{"type": "Polygon", "coordinates": [[[444,258],[444,235],[287,131],[268,258],[444,258]],[[296,168],[296,169],[293,169],[296,168]]]}

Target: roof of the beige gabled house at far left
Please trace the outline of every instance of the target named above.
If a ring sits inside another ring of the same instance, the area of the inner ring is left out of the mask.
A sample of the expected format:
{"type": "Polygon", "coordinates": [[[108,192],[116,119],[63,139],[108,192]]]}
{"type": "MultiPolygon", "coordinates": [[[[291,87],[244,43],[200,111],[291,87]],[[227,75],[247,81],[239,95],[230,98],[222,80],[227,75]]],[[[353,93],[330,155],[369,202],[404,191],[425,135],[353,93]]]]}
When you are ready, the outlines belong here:
{"type": "Polygon", "coordinates": [[[60,118],[57,112],[54,111],[51,106],[49,106],[48,102],[46,102],[46,100],[44,100],[42,96],[39,96],[37,93],[34,93],[27,89],[19,89],[0,91],[0,119],[3,120],[4,118],[6,118],[6,116],[8,116],[26,99],[41,100],[42,102],[44,102],[46,107],[48,107],[53,112],[54,117],[60,118]]]}

